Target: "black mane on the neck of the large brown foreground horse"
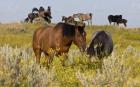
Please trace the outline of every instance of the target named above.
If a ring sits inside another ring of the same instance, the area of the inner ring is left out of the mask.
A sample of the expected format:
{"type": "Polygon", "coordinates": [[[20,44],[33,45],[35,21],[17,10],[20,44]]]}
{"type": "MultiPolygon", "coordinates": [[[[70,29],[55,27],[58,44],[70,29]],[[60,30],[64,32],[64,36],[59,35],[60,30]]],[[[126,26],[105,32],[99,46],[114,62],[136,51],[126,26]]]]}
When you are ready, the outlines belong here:
{"type": "Polygon", "coordinates": [[[63,29],[62,30],[63,36],[66,36],[66,37],[75,36],[75,25],[59,22],[55,26],[55,29],[63,29]]]}

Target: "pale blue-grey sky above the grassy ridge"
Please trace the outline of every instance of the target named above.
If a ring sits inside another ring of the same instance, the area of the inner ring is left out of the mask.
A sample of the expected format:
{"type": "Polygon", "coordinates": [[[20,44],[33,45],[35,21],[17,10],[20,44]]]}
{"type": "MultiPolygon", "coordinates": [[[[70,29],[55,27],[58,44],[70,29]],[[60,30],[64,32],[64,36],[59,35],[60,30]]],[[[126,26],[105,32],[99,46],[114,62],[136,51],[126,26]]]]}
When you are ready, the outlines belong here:
{"type": "Polygon", "coordinates": [[[33,7],[52,8],[52,22],[74,13],[92,13],[94,25],[109,24],[108,15],[123,15],[128,27],[140,27],[140,0],[0,0],[0,22],[24,20],[33,7]]]}

